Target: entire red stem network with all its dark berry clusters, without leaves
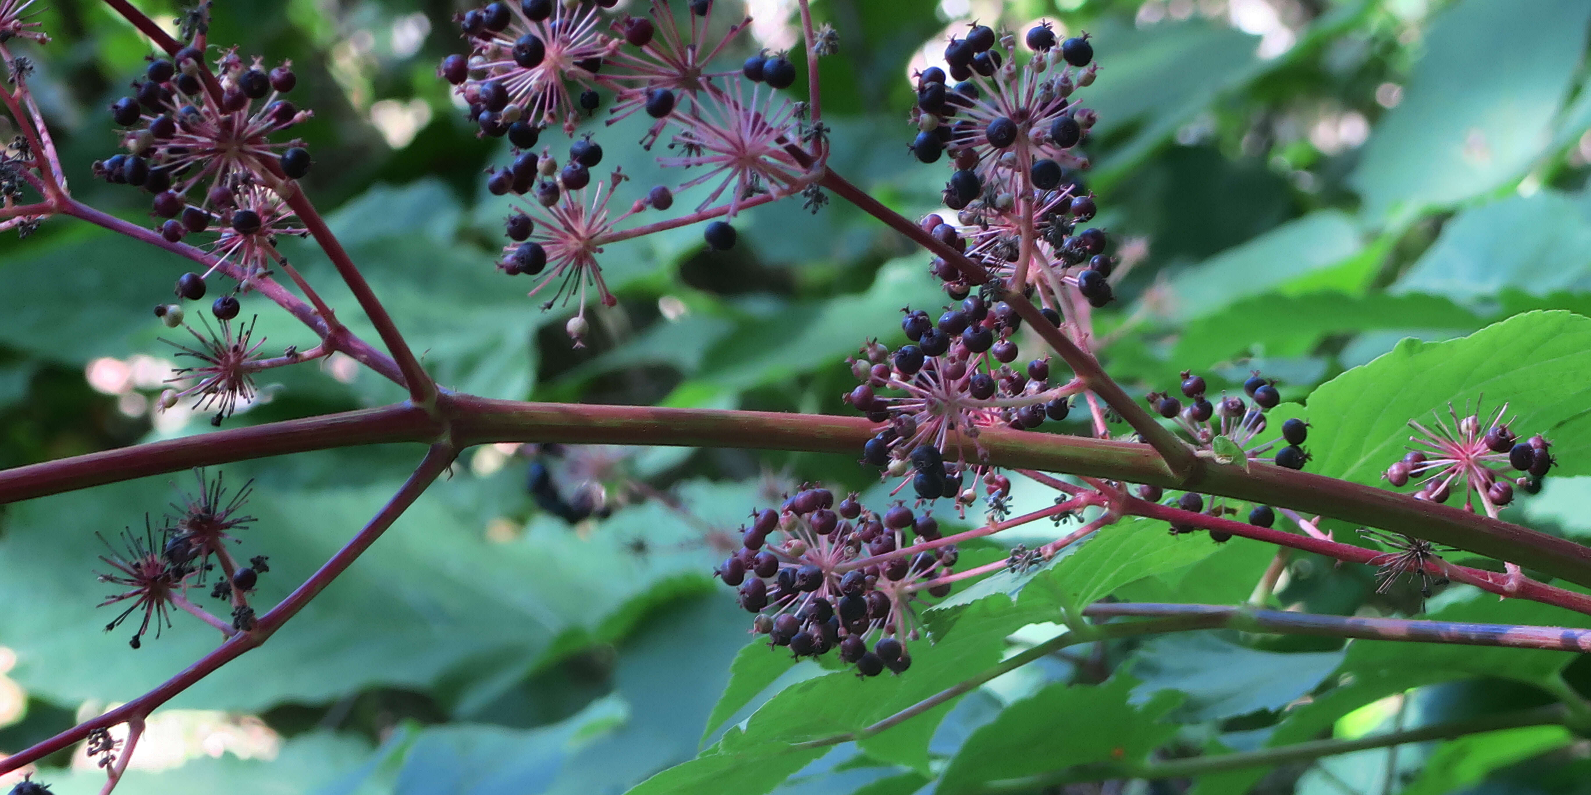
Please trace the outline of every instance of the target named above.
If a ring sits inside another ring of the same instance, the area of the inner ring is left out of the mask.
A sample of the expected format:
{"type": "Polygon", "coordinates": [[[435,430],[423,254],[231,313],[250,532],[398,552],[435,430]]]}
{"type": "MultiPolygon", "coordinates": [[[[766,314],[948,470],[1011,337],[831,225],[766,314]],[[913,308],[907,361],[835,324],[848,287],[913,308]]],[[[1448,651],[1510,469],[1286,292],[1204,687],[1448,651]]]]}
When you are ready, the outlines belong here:
{"type": "MultiPolygon", "coordinates": [[[[259,372],[334,353],[403,386],[407,398],[0,472],[0,501],[10,502],[197,469],[199,488],[172,514],[159,522],[146,517],[142,533],[124,531],[121,549],[99,558],[100,580],[116,588],[102,606],[121,611],[107,630],[137,623],[134,647],[150,630],[170,628],[177,612],[223,638],[159,688],[0,760],[0,773],[86,741],[110,776],[108,792],[153,709],[263,644],[375,544],[461,450],[482,444],[535,442],[527,490],[544,512],[571,523],[667,498],[640,479],[622,479],[624,488],[609,494],[603,480],[614,471],[611,452],[563,445],[859,450],[886,491],[867,498],[870,507],[858,494],[835,501],[829,488],[808,483],[784,494],[780,507],[754,510],[738,537],[714,531],[713,542],[729,553],[714,574],[756,614],[757,638],[796,657],[835,652],[862,677],[908,674],[913,657],[921,660],[931,649],[924,644],[936,641],[921,615],[934,599],[988,574],[1044,566],[1128,517],[1165,522],[1177,536],[1160,539],[1165,544],[1201,544],[1196,534],[1208,533],[1216,544],[1243,536],[1282,547],[1273,566],[1278,576],[1286,553],[1297,549],[1371,566],[1381,590],[1413,580],[1429,596],[1445,582],[1461,582],[1591,614],[1591,598],[1521,566],[1591,585],[1585,550],[1497,520],[1518,493],[1538,491],[1554,466],[1550,442],[1516,436],[1507,407],[1465,409],[1462,417],[1449,407],[1448,418],[1413,421],[1414,447],[1386,471],[1394,488],[1418,483],[1413,496],[1403,496],[1303,472],[1311,426],[1287,418],[1274,436],[1268,418],[1282,396],[1258,374],[1239,396],[1217,394],[1203,375],[1184,372],[1181,396],[1152,391],[1141,402],[1104,372],[1095,313],[1112,305],[1133,258],[1112,254],[1112,235],[1090,226],[1099,199],[1083,173],[1098,114],[1079,94],[1101,72],[1087,33],[1064,37],[1053,22],[1039,22],[1018,41],[1018,33],[974,22],[950,37],[942,64],[912,76],[915,105],[904,119],[910,143],[901,161],[950,167],[943,208],[913,221],[829,165],[816,62],[837,51],[838,33],[815,25],[805,0],[797,0],[799,51],[764,49],[743,60],[751,21],[725,21],[714,0],[678,6],[651,0],[646,14],[619,11],[616,0],[500,0],[457,16],[465,52],[445,57],[438,75],[468,107],[479,135],[504,138],[511,148],[508,162],[485,175],[488,191],[511,205],[495,267],[528,277],[527,293],[543,310],[576,304],[565,326],[576,347],[590,331],[587,307],[616,302],[603,278],[606,246],[641,235],[700,224],[705,245],[722,251],[738,242],[733,221],[741,211],[796,197],[818,211],[834,196],[931,254],[924,278],[943,288],[947,304],[905,307],[907,342],[891,350],[869,340],[848,361],[856,386],[843,399],[862,417],[823,417],[490,401],[444,390],[302,191],[312,157],[283,134],[312,114],[288,99],[298,83],[291,65],[208,45],[208,3],[183,17],[178,40],[127,0],[103,2],[158,52],[130,94],[110,105],[123,151],[97,161],[94,173],[145,191],[153,224],[115,218],[72,196],[27,87],[32,62],[11,52],[48,37],[27,16],[30,2],[0,0],[0,57],[11,78],[0,86],[0,103],[19,130],[0,154],[0,229],[25,235],[49,218],[75,218],[193,262],[175,280],[175,301],[154,310],[167,328],[197,340],[173,343],[188,366],[161,394],[162,409],[191,401],[221,425],[256,398],[259,372]],[[727,62],[732,54],[737,60],[727,62]],[[788,92],[802,78],[805,95],[792,99],[788,92]],[[616,145],[601,140],[603,130],[640,114],[651,122],[635,146],[662,146],[655,161],[679,169],[678,183],[632,184],[622,169],[598,172],[605,143],[616,145]],[[568,138],[557,151],[544,142],[552,129],[568,138]],[[380,347],[344,326],[282,256],[283,235],[320,246],[380,347]],[[286,283],[277,281],[280,275],[286,283]],[[220,294],[197,313],[196,328],[186,302],[212,291],[220,294]],[[317,342],[267,356],[266,340],[253,335],[255,321],[242,320],[243,301],[277,304],[317,342]],[[1036,353],[1041,345],[1047,351],[1036,353]],[[1071,432],[1044,432],[1056,428],[1071,432]],[[220,474],[199,467],[377,442],[417,442],[428,452],[345,547],[288,598],[258,612],[250,599],[267,571],[266,556],[245,566],[232,552],[234,536],[253,522],[242,515],[250,490],[228,493],[220,474]],[[558,466],[579,475],[579,490],[557,488],[544,461],[554,458],[565,458],[558,466]],[[1012,515],[1020,502],[1013,477],[1033,487],[1028,494],[1053,499],[1012,515]],[[1441,504],[1459,488],[1467,512],[1441,504]],[[1335,541],[1321,529],[1327,517],[1384,528],[1362,533],[1389,552],[1335,541]],[[942,520],[966,528],[940,528],[942,520]],[[1001,547],[986,564],[961,563],[974,542],[991,544],[980,539],[1020,526],[1031,533],[1044,520],[1053,533],[1045,531],[1047,541],[1034,549],[1001,547]],[[1278,528],[1279,520],[1297,531],[1278,528]],[[1063,531],[1063,523],[1077,526],[1063,531]],[[1448,563],[1432,539],[1489,555],[1503,561],[1503,571],[1448,563]],[[231,619],[189,598],[204,587],[231,607],[231,619]],[[121,744],[108,735],[118,725],[127,727],[121,744]]],[[[679,510],[673,502],[670,509],[679,510]]],[[[1266,577],[1260,596],[1276,585],[1266,577]]],[[[1069,623],[1214,609],[1082,607],[1066,617],[1069,623]]],[[[1271,619],[1278,631],[1591,649],[1586,633],[1558,628],[1483,631],[1403,619],[1367,628],[1333,623],[1336,617],[1279,615],[1271,619]]],[[[940,696],[923,704],[942,703],[940,696]]],[[[883,725],[915,716],[913,709],[883,725]]],[[[27,781],[13,792],[46,790],[27,781]]]]}

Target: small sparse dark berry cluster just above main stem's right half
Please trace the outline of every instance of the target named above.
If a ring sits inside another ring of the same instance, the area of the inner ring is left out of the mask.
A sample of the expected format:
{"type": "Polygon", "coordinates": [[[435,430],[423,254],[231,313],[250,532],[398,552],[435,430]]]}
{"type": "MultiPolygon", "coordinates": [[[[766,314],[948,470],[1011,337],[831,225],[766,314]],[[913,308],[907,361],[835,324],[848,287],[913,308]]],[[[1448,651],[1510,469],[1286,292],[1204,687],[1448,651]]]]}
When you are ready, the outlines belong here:
{"type": "Polygon", "coordinates": [[[1255,372],[1243,382],[1243,391],[1252,404],[1230,394],[1222,394],[1217,402],[1211,402],[1206,398],[1204,377],[1188,370],[1182,370],[1181,388],[1187,404],[1169,393],[1149,393],[1144,399],[1149,401],[1155,413],[1173,420],[1200,448],[1214,452],[1216,439],[1225,437],[1243,448],[1251,461],[1271,461],[1287,469],[1303,469],[1303,464],[1309,461],[1309,453],[1303,448],[1303,442],[1309,436],[1309,423],[1298,418],[1282,423],[1281,439],[1255,444],[1266,429],[1265,412],[1282,402],[1274,380],[1262,378],[1255,372]],[[1266,456],[1266,453],[1271,455],[1266,456]]]}

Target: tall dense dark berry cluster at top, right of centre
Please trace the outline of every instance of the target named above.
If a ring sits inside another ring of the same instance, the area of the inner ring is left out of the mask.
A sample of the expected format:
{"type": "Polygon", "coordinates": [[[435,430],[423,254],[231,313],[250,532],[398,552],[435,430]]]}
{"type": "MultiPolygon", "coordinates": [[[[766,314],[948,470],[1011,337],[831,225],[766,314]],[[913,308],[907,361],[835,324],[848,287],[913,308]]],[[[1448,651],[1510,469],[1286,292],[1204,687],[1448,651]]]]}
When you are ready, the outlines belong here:
{"type": "MultiPolygon", "coordinates": [[[[916,75],[912,154],[921,162],[950,156],[943,200],[959,221],[931,216],[937,223],[924,229],[991,273],[1041,289],[1063,315],[1104,307],[1114,299],[1115,261],[1104,253],[1103,229],[1079,229],[1098,213],[1077,178],[1088,167],[1079,146],[1096,114],[1069,99],[1095,80],[1093,45],[1079,37],[1056,46],[1048,22],[1026,43],[1033,56],[1018,67],[1015,37],[972,24],[945,48],[948,75],[939,67],[916,75]],[[1025,250],[1028,238],[1036,250],[1025,250]]],[[[937,259],[932,272],[951,296],[967,291],[953,264],[937,259]]]]}

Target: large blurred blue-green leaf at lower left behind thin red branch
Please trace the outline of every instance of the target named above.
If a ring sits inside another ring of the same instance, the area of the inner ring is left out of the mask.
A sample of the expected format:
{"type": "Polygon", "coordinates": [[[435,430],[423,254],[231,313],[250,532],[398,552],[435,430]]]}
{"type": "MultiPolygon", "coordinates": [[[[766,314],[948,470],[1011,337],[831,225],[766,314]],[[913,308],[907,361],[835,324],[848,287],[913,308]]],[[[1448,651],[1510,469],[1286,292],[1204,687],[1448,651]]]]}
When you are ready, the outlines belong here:
{"type": "MultiPolygon", "coordinates": [[[[228,482],[240,482],[234,479],[247,471],[229,469],[228,482]]],[[[138,514],[173,499],[169,483],[145,479],[10,507],[0,564],[16,576],[0,579],[0,599],[37,607],[0,615],[0,638],[18,652],[10,676],[29,692],[57,703],[126,700],[215,649],[218,634],[180,612],[162,638],[127,649],[135,625],[107,634],[115,612],[94,607],[113,590],[94,582],[94,572],[107,569],[94,533],[115,539],[129,523],[142,531],[138,514]]],[[[180,485],[193,488],[191,475],[180,485]]],[[[258,522],[239,533],[237,547],[245,560],[270,556],[256,609],[269,609],[304,582],[393,488],[258,485],[248,506],[258,522]]],[[[484,537],[484,520],[449,509],[447,483],[433,488],[269,644],[175,703],[259,711],[283,701],[334,701],[375,685],[428,688],[465,661],[457,671],[465,679],[492,677],[500,666],[523,671],[552,653],[558,639],[568,646],[614,631],[606,623],[659,585],[710,587],[705,553],[676,547],[700,531],[659,504],[620,510],[589,539],[546,522],[519,541],[493,544],[484,537]],[[659,550],[644,558],[625,545],[643,529],[659,550]]],[[[738,488],[692,487],[681,496],[703,518],[719,520],[751,502],[751,487],[738,488]]],[[[189,596],[216,607],[200,590],[189,596]]]]}

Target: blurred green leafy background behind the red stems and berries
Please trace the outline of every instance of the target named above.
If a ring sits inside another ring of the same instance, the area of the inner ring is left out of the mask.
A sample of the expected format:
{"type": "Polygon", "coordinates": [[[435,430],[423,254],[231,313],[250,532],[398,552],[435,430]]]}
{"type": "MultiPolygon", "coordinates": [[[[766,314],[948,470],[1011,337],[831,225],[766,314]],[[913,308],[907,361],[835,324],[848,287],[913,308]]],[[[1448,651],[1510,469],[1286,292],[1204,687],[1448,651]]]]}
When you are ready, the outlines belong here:
{"type": "MultiPolygon", "coordinates": [[[[137,5],[177,13],[167,2],[137,5]]],[[[751,5],[768,22],[794,11],[751,5]]],[[[703,253],[694,229],[611,246],[603,266],[620,304],[597,310],[590,345],[571,350],[568,310],[541,312],[492,267],[506,202],[487,194],[482,170],[506,148],[479,140],[434,76],[436,60],[460,48],[450,16],[461,8],[223,2],[210,29],[212,41],[243,54],[293,60],[294,100],[315,110],[294,130],[317,161],[309,194],[334,208],[355,261],[445,386],[835,413],[850,382],[842,359],[869,337],[894,340],[899,307],[943,301],[924,258],[854,208],[773,205],[738,221],[743,245],[732,253],[703,253]]],[[[1484,394],[1488,404],[1513,401],[1521,426],[1548,432],[1566,475],[1591,475],[1591,5],[815,0],[813,11],[842,37],[819,70],[832,164],[905,215],[936,208],[943,178],[905,151],[905,78],[926,43],[974,16],[1015,30],[1048,17],[1093,33],[1103,68],[1080,95],[1101,122],[1087,180],[1101,197],[1098,224],[1131,262],[1120,308],[1101,316],[1103,355],[1131,391],[1168,388],[1182,369],[1219,391],[1262,369],[1282,380],[1287,399],[1306,399],[1273,421],[1314,423],[1311,469],[1371,483],[1403,445],[1405,420],[1484,394]],[[1515,316],[1532,310],[1554,312],[1515,316]]],[[[40,19],[56,41],[19,49],[38,64],[32,84],[75,194],[143,223],[140,194],[94,181],[89,164],[115,145],[103,108],[126,91],[146,45],[88,0],[53,3],[40,19]]],[[[756,46],[732,48],[725,64],[756,46]]],[[[636,122],[585,129],[636,184],[659,178],[628,146],[636,122]]],[[[374,337],[313,246],[291,242],[285,253],[356,332],[374,337]]],[[[57,219],[0,243],[0,270],[10,286],[0,293],[0,463],[204,428],[154,423],[148,404],[161,383],[137,377],[138,363],[172,358],[148,307],[167,296],[181,261],[57,219]],[[105,358],[134,375],[91,388],[84,372],[105,358]]],[[[245,297],[245,313],[255,312],[270,348],[312,342],[245,297]]],[[[275,372],[269,399],[234,421],[399,398],[336,366],[275,372]]],[[[256,479],[258,522],[242,549],[272,558],[259,599],[280,598],[331,555],[414,458],[380,447],[229,467],[232,482],[256,479]]],[[[121,792],[619,793],[640,784],[644,793],[948,795],[1160,747],[1255,749],[1333,727],[1340,736],[1418,727],[1591,693],[1591,666],[1558,652],[1203,633],[1047,658],[862,743],[792,749],[966,679],[1053,634],[1047,622],[1063,609],[1111,593],[1243,601],[1271,550],[1128,523],[1055,566],[961,590],[926,614],[939,642],[918,649],[907,676],[859,681],[745,646],[748,615],[706,576],[745,510],[794,483],[872,487],[885,499],[846,456],[571,450],[541,461],[563,488],[595,472],[617,509],[571,528],[527,494],[522,458],[495,448],[466,456],[270,644],[172,703],[173,714],[256,716],[237,725],[275,741],[204,746],[213,754],[188,743],[196,758],[135,770],[121,792]]],[[[126,633],[100,631],[107,617],[94,609],[94,534],[137,526],[143,510],[158,515],[175,499],[172,480],[6,507],[0,646],[16,652],[6,676],[27,704],[0,727],[0,750],[127,700],[213,647],[208,631],[178,622],[132,652],[126,633]]],[[[1018,509],[1023,499],[1047,501],[1018,487],[1018,509]]],[[[1588,537],[1588,507],[1591,480],[1561,477],[1508,515],[1588,537]]],[[[1352,528],[1327,529],[1352,541],[1352,528]]],[[[1413,587],[1376,595],[1371,574],[1300,555],[1273,601],[1418,611],[1413,587]]],[[[1445,620],[1585,620],[1462,588],[1429,611],[1445,620]]],[[[1126,792],[1567,795],[1588,792],[1586,749],[1564,730],[1529,728],[1126,792]]],[[[49,758],[40,779],[60,795],[100,785],[99,771],[62,770],[67,757],[49,758]]]]}

